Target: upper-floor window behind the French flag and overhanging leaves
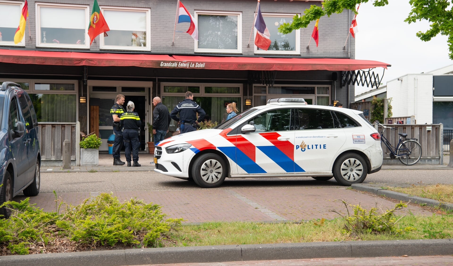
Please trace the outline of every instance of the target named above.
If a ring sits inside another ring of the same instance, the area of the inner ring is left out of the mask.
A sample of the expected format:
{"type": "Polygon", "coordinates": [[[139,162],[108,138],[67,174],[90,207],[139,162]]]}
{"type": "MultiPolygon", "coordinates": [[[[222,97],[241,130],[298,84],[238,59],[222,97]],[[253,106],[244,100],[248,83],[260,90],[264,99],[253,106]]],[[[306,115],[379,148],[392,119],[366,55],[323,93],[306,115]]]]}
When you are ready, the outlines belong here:
{"type": "MultiPolygon", "coordinates": [[[[270,46],[267,51],[255,46],[255,53],[300,54],[300,30],[294,30],[288,34],[282,34],[278,31],[281,24],[293,22],[294,14],[263,13],[262,15],[270,33],[270,46]]],[[[254,36],[256,36],[256,29],[254,36]]]]}

